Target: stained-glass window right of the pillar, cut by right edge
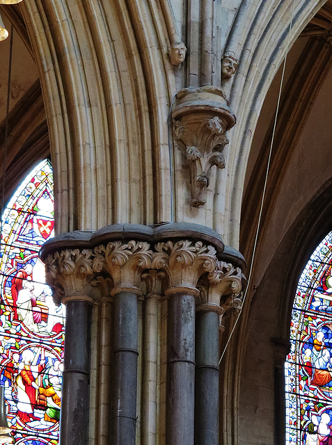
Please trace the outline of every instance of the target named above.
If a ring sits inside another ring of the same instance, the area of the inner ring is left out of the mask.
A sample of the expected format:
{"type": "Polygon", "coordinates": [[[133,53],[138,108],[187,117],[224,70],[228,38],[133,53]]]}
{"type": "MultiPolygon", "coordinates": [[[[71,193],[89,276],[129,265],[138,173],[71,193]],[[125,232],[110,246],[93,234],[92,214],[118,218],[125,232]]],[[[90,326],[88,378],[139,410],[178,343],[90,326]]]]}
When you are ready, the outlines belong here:
{"type": "Polygon", "coordinates": [[[303,270],[285,364],[286,443],[332,444],[332,232],[303,270]]]}

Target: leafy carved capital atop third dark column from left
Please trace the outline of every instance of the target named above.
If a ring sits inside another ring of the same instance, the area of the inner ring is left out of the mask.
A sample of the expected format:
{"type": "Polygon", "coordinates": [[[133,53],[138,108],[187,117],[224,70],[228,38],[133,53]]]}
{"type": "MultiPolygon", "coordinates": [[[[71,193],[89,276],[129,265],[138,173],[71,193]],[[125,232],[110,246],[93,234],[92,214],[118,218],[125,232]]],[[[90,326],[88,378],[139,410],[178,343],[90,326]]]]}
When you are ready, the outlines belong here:
{"type": "Polygon", "coordinates": [[[157,243],[155,250],[152,268],[165,271],[169,284],[166,296],[181,291],[196,296],[196,285],[201,275],[212,273],[216,268],[216,250],[201,241],[166,241],[157,243]]]}

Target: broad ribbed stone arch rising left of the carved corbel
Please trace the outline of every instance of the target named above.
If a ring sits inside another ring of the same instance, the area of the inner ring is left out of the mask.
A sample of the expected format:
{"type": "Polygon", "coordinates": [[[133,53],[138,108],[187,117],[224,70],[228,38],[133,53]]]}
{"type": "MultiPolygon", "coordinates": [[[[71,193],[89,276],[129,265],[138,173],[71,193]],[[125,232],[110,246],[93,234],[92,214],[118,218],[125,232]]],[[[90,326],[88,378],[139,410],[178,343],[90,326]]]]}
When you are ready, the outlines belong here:
{"type": "Polygon", "coordinates": [[[169,219],[164,122],[174,74],[152,3],[22,3],[49,124],[58,233],[169,219]]]}

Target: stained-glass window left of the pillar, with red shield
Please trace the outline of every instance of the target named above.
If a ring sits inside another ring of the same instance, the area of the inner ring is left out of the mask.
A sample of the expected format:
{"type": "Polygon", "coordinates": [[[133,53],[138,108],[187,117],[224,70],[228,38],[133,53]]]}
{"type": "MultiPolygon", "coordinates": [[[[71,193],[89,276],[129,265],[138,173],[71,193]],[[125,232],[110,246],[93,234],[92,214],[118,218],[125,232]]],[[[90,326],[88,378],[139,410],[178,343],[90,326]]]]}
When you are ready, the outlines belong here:
{"type": "Polygon", "coordinates": [[[0,385],[15,444],[58,444],[64,314],[45,284],[40,246],[54,234],[52,167],[43,161],[3,213],[0,385]]]}

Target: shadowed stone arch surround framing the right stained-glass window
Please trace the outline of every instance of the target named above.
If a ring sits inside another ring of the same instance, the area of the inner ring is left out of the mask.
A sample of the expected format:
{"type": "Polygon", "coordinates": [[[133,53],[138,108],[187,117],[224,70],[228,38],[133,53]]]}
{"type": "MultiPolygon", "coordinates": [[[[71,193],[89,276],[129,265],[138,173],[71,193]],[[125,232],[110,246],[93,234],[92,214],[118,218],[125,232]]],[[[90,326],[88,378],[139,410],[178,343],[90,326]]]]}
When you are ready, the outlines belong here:
{"type": "Polygon", "coordinates": [[[284,443],[285,405],[283,363],[290,335],[292,305],[299,276],[313,250],[331,230],[332,181],[313,195],[299,213],[278,246],[269,267],[255,290],[242,325],[244,350],[239,391],[239,435],[246,435],[251,425],[252,440],[260,423],[260,439],[274,430],[274,437],[284,443]],[[279,379],[279,380],[278,380],[279,379]],[[278,381],[276,381],[278,380],[278,381]],[[271,404],[274,394],[275,405],[271,404]],[[269,403],[267,399],[269,398],[269,403]],[[243,414],[246,412],[246,419],[243,414]]]}

